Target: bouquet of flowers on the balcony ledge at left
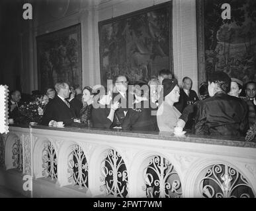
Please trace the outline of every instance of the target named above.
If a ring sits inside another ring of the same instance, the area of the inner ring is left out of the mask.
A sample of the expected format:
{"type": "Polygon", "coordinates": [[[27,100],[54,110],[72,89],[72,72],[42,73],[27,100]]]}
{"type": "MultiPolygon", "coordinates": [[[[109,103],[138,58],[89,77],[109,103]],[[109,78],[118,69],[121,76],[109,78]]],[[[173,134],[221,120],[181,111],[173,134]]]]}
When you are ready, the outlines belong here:
{"type": "Polygon", "coordinates": [[[40,123],[44,114],[45,104],[39,102],[28,102],[19,107],[19,111],[26,117],[26,122],[40,123]]]}

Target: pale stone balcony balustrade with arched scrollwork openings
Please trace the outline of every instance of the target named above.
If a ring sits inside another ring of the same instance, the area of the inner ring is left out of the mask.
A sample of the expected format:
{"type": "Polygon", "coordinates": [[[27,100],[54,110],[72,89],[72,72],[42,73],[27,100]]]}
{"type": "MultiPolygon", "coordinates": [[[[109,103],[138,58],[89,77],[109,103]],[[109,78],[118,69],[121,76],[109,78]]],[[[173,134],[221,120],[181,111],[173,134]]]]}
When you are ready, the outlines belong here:
{"type": "Polygon", "coordinates": [[[22,174],[32,177],[32,196],[42,191],[35,185],[38,178],[50,179],[58,189],[73,187],[85,197],[256,193],[256,144],[251,142],[43,126],[11,127],[1,142],[0,164],[22,166],[22,174]]]}

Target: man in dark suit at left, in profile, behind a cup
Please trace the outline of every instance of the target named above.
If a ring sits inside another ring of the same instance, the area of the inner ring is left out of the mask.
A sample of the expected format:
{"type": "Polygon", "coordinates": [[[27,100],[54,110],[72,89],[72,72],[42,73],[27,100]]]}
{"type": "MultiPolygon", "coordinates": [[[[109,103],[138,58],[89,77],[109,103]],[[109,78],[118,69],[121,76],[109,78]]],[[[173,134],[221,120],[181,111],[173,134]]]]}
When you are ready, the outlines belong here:
{"type": "Polygon", "coordinates": [[[65,82],[58,82],[55,89],[57,96],[46,105],[42,125],[57,126],[58,121],[63,121],[64,125],[72,125],[75,112],[65,100],[69,97],[69,85],[65,82]]]}

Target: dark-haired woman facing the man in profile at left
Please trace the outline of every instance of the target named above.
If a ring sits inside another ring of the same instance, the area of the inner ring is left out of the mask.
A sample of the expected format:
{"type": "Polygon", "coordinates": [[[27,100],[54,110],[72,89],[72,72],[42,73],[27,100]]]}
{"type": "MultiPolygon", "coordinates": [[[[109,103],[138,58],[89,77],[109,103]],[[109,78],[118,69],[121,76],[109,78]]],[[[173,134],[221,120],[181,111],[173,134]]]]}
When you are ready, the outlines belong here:
{"type": "Polygon", "coordinates": [[[93,127],[93,121],[91,117],[91,111],[93,109],[93,98],[95,92],[91,86],[85,86],[83,88],[83,107],[80,110],[80,120],[85,126],[93,127]]]}

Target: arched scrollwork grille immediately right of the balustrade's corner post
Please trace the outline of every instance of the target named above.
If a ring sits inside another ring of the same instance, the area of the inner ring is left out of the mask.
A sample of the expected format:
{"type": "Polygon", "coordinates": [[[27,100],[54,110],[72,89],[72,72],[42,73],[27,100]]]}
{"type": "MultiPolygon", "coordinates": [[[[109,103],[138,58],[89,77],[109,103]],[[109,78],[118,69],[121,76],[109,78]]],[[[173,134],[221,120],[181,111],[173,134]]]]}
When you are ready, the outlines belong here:
{"type": "Polygon", "coordinates": [[[52,180],[57,179],[57,163],[58,160],[54,146],[51,142],[46,142],[42,151],[42,167],[44,168],[42,175],[50,177],[52,180]]]}

